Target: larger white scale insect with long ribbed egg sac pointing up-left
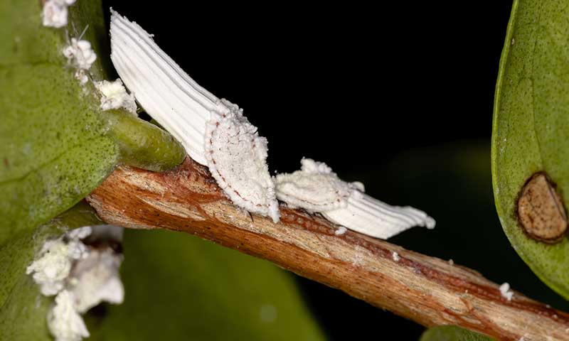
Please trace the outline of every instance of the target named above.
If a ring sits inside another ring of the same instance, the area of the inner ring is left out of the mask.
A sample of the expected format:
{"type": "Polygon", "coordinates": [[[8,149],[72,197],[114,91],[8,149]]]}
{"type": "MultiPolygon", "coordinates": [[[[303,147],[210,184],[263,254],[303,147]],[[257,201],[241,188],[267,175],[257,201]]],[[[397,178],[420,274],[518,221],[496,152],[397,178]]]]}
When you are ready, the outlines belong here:
{"type": "Polygon", "coordinates": [[[243,109],[198,85],[137,23],[111,9],[111,60],[139,104],[208,166],[230,200],[279,220],[275,184],[267,166],[267,139],[243,109]]]}

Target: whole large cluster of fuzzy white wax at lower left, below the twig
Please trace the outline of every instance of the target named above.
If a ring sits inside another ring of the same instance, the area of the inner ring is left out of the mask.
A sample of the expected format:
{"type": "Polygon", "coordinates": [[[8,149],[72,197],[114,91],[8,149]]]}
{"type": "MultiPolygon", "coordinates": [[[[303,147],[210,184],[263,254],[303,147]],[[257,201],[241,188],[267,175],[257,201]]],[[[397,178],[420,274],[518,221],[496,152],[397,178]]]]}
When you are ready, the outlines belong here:
{"type": "MultiPolygon", "coordinates": [[[[100,225],[73,229],[47,241],[26,269],[45,296],[55,296],[48,312],[48,327],[57,341],[80,341],[89,332],[80,313],[102,301],[122,303],[119,277],[122,255],[108,244],[90,247],[84,241],[119,241],[122,227],[100,225]]],[[[101,242],[102,243],[102,242],[101,242]]]]}

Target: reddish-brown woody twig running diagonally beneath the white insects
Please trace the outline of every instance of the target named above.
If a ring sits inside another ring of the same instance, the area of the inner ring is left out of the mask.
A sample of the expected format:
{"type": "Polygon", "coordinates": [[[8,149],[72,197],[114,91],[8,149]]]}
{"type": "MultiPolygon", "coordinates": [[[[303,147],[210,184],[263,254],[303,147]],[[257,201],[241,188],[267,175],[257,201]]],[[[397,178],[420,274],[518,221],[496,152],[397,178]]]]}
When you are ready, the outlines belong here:
{"type": "Polygon", "coordinates": [[[476,271],[356,232],[336,236],[331,222],[284,205],[277,224],[249,215],[190,158],[166,173],[119,167],[87,200],[106,222],[196,234],[425,326],[459,325],[499,340],[569,340],[568,314],[517,292],[508,301],[476,271]]]}

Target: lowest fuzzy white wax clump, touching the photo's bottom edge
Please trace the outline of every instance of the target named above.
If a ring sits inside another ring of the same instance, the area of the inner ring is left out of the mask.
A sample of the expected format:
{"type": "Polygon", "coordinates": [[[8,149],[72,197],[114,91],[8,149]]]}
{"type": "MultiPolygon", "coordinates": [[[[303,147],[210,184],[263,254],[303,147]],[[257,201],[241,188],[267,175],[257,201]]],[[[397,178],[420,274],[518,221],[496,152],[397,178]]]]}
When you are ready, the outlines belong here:
{"type": "Polygon", "coordinates": [[[89,337],[83,318],[75,309],[73,294],[61,291],[55,297],[55,305],[48,313],[48,328],[55,341],[81,341],[89,337]]]}

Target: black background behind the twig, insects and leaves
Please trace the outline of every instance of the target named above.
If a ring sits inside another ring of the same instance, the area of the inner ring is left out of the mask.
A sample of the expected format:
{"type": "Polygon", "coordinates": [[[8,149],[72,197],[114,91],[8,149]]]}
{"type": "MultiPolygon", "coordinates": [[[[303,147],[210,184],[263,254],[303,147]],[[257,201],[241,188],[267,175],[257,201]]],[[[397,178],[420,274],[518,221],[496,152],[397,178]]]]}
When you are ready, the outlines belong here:
{"type": "MultiPolygon", "coordinates": [[[[494,85],[511,1],[226,6],[104,1],[196,82],[245,110],[271,171],[307,156],[368,193],[437,219],[392,242],[454,259],[568,308],[511,249],[493,204],[494,85]]],[[[107,13],[108,15],[108,13],[107,13]]],[[[423,328],[298,278],[331,340],[417,340],[423,328]]]]}

